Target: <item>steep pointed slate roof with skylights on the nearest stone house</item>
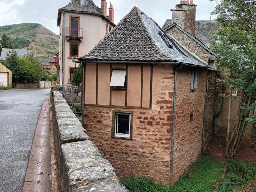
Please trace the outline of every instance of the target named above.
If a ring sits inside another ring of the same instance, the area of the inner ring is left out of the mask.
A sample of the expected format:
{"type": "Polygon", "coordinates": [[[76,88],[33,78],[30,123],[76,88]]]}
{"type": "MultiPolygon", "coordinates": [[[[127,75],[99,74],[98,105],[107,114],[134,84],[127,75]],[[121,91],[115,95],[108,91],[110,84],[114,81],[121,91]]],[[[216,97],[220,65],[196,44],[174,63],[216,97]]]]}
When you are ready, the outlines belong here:
{"type": "Polygon", "coordinates": [[[208,67],[207,63],[179,45],[137,7],[134,7],[86,56],[78,59],[180,62],[208,67]]]}

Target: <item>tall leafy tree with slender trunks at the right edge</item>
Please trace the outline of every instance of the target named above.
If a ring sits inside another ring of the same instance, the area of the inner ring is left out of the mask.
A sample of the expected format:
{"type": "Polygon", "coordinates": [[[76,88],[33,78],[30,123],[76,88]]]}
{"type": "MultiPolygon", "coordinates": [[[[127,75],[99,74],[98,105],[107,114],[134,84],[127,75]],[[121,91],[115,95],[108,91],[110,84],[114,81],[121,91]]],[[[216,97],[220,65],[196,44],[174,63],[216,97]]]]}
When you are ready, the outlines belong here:
{"type": "Polygon", "coordinates": [[[218,68],[225,74],[226,88],[241,94],[236,126],[230,137],[227,134],[227,158],[236,155],[247,123],[256,122],[255,115],[250,114],[256,109],[255,10],[254,0],[221,0],[214,10],[220,27],[212,39],[211,49],[219,54],[218,68]]]}

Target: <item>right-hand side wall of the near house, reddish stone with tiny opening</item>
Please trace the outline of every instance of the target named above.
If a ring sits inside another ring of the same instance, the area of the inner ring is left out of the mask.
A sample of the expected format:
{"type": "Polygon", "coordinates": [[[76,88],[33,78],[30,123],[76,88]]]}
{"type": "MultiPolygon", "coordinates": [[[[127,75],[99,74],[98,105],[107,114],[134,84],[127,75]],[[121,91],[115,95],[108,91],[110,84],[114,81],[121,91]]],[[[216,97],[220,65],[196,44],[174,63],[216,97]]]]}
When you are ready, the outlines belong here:
{"type": "Polygon", "coordinates": [[[196,90],[191,90],[191,69],[177,75],[176,122],[174,136],[174,182],[202,150],[206,71],[197,70],[196,90]]]}

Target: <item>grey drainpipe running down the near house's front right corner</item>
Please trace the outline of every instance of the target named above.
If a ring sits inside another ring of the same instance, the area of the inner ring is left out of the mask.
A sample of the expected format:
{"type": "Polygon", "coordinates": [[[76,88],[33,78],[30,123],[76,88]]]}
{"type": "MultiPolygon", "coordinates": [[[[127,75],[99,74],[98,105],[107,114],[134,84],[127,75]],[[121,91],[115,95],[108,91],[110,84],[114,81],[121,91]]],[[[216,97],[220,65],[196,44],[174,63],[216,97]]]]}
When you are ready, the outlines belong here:
{"type": "Polygon", "coordinates": [[[177,91],[177,71],[180,70],[183,66],[175,69],[174,74],[174,112],[173,112],[173,129],[172,129],[172,148],[170,154],[170,186],[173,186],[173,160],[174,160],[174,131],[175,131],[175,112],[176,112],[176,91],[177,91]]]}

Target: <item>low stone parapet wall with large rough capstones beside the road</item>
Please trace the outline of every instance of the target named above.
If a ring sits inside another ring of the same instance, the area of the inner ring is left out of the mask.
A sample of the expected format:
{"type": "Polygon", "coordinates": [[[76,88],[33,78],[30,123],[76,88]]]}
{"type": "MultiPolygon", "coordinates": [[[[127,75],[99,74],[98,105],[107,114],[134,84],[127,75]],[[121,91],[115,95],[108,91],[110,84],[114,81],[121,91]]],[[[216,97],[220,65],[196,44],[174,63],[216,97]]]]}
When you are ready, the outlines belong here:
{"type": "Polygon", "coordinates": [[[51,93],[60,191],[128,191],[89,139],[60,92],[51,93]]]}

